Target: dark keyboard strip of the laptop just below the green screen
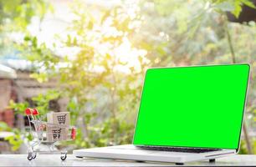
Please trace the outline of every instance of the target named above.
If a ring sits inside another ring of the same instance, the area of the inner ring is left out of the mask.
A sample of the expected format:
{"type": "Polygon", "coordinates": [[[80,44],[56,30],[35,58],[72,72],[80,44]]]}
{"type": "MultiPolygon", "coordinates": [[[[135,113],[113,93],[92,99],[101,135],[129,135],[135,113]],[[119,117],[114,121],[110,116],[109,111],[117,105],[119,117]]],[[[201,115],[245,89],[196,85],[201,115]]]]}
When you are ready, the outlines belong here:
{"type": "Polygon", "coordinates": [[[154,147],[154,146],[138,146],[141,149],[158,150],[158,151],[171,151],[171,152],[184,152],[184,153],[207,153],[218,151],[221,149],[193,149],[193,148],[174,148],[174,147],[154,147]]]}

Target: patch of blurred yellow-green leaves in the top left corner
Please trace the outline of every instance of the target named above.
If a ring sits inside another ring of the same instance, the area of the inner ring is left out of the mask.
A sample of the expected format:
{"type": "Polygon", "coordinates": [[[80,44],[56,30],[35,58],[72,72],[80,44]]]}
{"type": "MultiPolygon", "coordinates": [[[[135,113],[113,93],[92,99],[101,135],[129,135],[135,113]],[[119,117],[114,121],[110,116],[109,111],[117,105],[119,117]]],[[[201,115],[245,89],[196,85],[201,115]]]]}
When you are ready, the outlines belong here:
{"type": "Polygon", "coordinates": [[[47,11],[53,12],[47,0],[0,0],[0,54],[12,53],[16,42],[11,33],[28,33],[31,19],[43,20],[47,11]]]}

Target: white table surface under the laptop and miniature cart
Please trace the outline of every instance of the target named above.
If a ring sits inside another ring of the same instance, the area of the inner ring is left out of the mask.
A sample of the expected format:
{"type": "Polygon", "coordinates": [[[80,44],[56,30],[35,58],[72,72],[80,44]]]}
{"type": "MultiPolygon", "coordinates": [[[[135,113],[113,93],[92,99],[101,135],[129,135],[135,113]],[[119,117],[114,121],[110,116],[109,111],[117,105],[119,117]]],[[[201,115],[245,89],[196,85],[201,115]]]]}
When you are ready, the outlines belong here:
{"type": "MultiPolygon", "coordinates": [[[[137,163],[112,159],[78,159],[68,154],[64,161],[57,154],[38,154],[36,159],[28,161],[27,154],[0,154],[0,166],[177,166],[172,163],[137,163]]],[[[216,159],[215,163],[208,161],[186,163],[183,166],[256,166],[255,155],[231,155],[216,159]]],[[[178,165],[182,166],[182,165],[178,165]]]]}

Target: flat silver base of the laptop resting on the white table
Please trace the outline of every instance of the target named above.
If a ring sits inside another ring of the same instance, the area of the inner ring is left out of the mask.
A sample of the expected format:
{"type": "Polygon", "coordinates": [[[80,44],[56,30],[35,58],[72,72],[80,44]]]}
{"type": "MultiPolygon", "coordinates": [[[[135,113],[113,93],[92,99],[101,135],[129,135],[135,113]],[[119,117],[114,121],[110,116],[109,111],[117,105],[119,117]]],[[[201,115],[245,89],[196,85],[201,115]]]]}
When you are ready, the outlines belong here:
{"type": "Polygon", "coordinates": [[[136,162],[166,162],[184,164],[192,161],[207,160],[214,163],[216,158],[236,154],[235,149],[221,149],[207,153],[184,153],[159,150],[145,150],[132,144],[102,148],[77,149],[73,151],[78,158],[125,159],[136,162]]]}

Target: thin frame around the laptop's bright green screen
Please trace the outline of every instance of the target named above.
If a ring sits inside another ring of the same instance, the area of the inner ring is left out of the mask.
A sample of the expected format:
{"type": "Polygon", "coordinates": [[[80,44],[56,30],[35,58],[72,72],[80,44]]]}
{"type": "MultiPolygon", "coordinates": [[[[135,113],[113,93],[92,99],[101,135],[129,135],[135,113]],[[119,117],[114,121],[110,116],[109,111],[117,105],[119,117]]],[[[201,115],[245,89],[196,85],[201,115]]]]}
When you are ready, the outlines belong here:
{"type": "MultiPolygon", "coordinates": [[[[241,134],[242,134],[242,129],[243,129],[243,117],[244,117],[244,111],[245,111],[245,107],[246,107],[246,101],[247,101],[247,95],[248,95],[248,83],[249,83],[249,78],[250,78],[250,64],[249,63],[230,63],[230,64],[212,64],[212,65],[197,65],[197,66],[180,66],[180,67],[156,67],[156,68],[147,68],[146,72],[149,69],[158,69],[158,68],[202,68],[202,67],[212,67],[212,66],[233,66],[233,65],[247,65],[248,66],[248,79],[247,79],[247,86],[246,86],[246,90],[245,90],[245,98],[244,98],[244,102],[243,102],[243,112],[242,112],[242,121],[241,121],[241,126],[240,126],[240,132],[239,132],[239,139],[238,139],[238,146],[236,148],[236,152],[238,153],[239,149],[240,149],[240,143],[241,143],[241,134]]],[[[143,86],[141,89],[141,98],[143,96],[143,89],[145,86],[145,78],[146,78],[146,73],[144,74],[144,80],[143,80],[143,86]]],[[[139,114],[140,114],[140,109],[141,109],[141,102],[139,105],[139,109],[136,115],[136,125],[135,125],[135,129],[134,129],[134,134],[133,134],[133,139],[132,139],[132,144],[134,144],[134,137],[136,134],[136,126],[137,126],[137,121],[139,118],[139,114]]],[[[227,148],[212,148],[212,147],[186,147],[186,146],[175,146],[175,145],[151,145],[151,144],[134,144],[135,146],[140,146],[140,147],[146,147],[146,146],[154,146],[154,147],[175,147],[175,148],[197,148],[197,149],[227,149],[227,148]]]]}

